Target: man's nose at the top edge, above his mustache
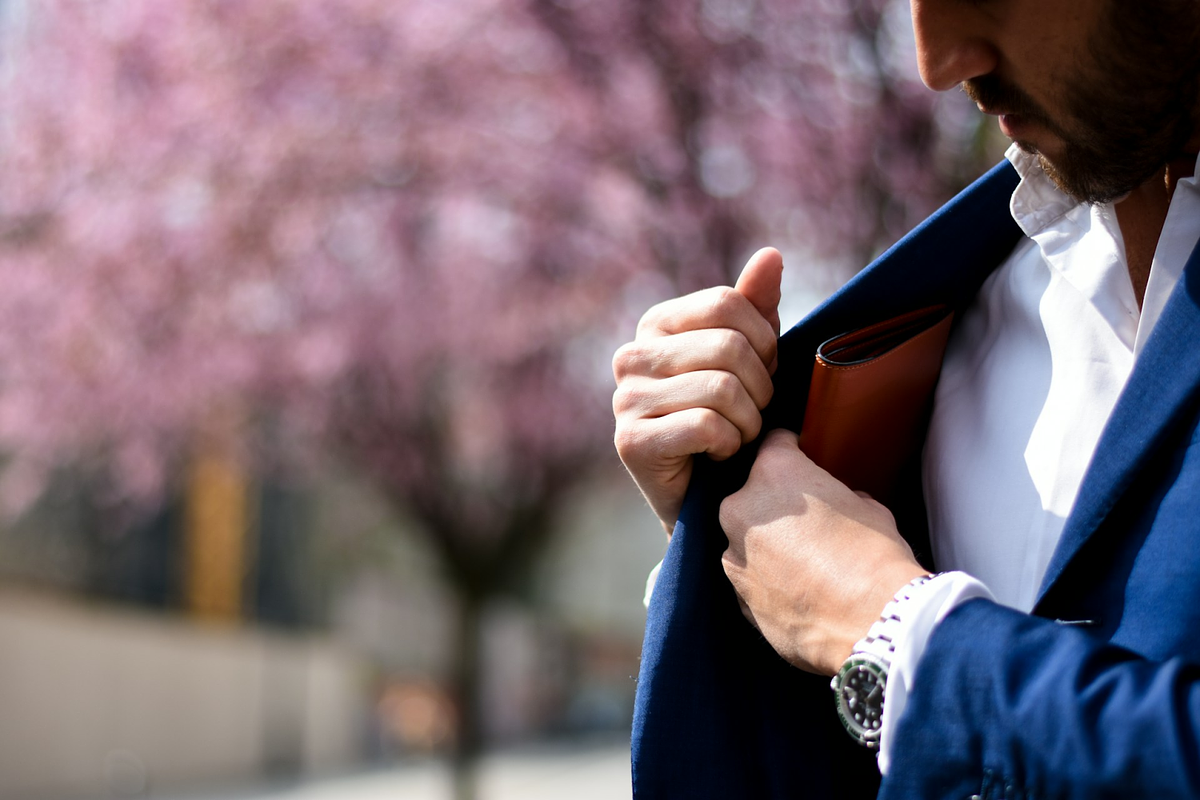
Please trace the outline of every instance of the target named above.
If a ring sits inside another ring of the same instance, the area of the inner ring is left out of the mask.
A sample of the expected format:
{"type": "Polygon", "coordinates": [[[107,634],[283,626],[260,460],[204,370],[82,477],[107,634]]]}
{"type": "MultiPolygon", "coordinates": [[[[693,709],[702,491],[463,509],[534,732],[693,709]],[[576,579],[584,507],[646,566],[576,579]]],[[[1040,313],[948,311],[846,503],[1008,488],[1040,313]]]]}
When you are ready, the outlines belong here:
{"type": "Polygon", "coordinates": [[[962,0],[911,0],[920,79],[936,91],[958,86],[996,68],[1000,55],[988,38],[986,19],[962,0]]]}

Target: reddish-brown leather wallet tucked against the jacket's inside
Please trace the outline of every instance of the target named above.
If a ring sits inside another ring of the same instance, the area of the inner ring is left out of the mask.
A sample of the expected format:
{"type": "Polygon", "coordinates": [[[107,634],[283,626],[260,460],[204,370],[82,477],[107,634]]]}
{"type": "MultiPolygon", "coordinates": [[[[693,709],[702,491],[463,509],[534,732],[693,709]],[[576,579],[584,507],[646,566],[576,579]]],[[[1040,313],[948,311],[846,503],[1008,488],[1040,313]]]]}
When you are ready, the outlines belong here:
{"type": "Polygon", "coordinates": [[[800,450],[884,505],[920,450],[953,312],[932,306],[817,348],[800,450]]]}

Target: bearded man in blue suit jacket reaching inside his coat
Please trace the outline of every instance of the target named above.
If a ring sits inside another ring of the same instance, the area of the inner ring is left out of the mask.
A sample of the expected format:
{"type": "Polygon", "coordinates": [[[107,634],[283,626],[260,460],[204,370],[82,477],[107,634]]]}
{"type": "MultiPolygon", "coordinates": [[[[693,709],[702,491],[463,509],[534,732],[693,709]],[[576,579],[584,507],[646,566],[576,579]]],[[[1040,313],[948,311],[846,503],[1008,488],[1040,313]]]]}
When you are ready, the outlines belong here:
{"type": "Polygon", "coordinates": [[[635,792],[870,796],[804,674],[865,654],[882,664],[870,691],[850,685],[857,667],[835,687],[882,708],[856,732],[878,747],[880,796],[1200,796],[1200,4],[912,0],[912,14],[923,80],[997,115],[1015,173],[989,173],[779,343],[767,249],[733,289],[650,309],[614,357],[618,452],[674,530],[635,792]],[[792,431],[821,337],[928,300],[959,320],[924,491],[892,510],[902,537],[792,431]],[[726,459],[744,463],[709,463],[726,459]],[[695,589],[716,504],[724,576],[790,672],[745,668],[750,637],[725,655],[738,633],[704,630],[726,624],[720,593],[695,589]],[[768,734],[748,727],[760,716],[768,734]]]}

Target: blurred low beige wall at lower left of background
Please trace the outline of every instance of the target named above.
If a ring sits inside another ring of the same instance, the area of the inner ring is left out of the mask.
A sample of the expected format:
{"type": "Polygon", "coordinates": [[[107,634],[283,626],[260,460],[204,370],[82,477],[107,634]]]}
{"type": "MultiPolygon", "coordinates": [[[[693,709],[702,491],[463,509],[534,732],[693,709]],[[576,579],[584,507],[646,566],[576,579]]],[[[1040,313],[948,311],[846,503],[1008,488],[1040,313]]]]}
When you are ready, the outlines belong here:
{"type": "Polygon", "coordinates": [[[0,796],[162,796],[344,770],[361,661],[322,636],[0,590],[0,796]]]}

